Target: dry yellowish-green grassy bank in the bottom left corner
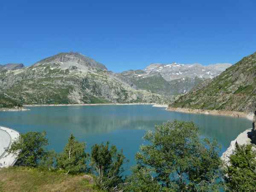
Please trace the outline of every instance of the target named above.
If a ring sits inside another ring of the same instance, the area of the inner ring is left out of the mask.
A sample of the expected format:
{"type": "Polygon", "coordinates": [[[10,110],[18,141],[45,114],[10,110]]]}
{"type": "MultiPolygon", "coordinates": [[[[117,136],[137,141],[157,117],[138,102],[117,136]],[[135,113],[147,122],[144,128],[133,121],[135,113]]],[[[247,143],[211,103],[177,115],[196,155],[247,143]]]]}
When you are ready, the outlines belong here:
{"type": "Polygon", "coordinates": [[[100,192],[83,175],[65,175],[36,168],[0,169],[0,192],[100,192]]]}

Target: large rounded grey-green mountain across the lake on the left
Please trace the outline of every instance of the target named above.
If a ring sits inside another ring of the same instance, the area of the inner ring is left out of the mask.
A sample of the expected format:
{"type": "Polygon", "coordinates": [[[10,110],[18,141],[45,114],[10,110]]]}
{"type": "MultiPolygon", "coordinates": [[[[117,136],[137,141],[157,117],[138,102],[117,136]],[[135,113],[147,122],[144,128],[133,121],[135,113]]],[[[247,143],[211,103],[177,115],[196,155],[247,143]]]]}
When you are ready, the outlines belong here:
{"type": "Polygon", "coordinates": [[[80,53],[59,53],[30,67],[0,71],[0,90],[24,104],[164,102],[80,53]]]}

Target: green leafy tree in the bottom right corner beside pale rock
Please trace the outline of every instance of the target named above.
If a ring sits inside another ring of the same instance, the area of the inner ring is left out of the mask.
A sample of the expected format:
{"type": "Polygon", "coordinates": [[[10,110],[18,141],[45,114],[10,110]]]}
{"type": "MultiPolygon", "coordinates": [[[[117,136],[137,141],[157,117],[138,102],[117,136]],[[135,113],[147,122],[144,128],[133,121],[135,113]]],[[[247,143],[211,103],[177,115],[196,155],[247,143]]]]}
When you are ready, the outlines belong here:
{"type": "Polygon", "coordinates": [[[238,145],[230,155],[230,166],[224,169],[226,191],[256,191],[256,151],[252,145],[238,145]]]}

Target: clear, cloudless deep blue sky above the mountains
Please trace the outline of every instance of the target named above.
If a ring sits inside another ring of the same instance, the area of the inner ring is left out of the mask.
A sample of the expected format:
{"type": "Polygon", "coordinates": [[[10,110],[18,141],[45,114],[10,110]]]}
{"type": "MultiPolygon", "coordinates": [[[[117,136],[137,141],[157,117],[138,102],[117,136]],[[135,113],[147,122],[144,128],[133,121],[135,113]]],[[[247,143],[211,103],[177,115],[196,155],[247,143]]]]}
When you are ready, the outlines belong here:
{"type": "Polygon", "coordinates": [[[153,62],[236,63],[256,52],[255,0],[38,2],[1,2],[0,64],[75,51],[119,72],[153,62]]]}

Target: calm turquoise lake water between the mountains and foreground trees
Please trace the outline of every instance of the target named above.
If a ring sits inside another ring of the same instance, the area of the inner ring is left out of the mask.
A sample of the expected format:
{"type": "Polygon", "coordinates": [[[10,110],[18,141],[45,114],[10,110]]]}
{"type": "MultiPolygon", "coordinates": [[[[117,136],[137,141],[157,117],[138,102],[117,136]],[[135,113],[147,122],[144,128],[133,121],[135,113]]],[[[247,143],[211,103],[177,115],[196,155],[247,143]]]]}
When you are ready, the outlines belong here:
{"type": "Polygon", "coordinates": [[[195,122],[203,137],[216,138],[225,151],[239,133],[251,127],[244,118],[210,116],[166,111],[151,105],[97,105],[30,107],[31,111],[0,112],[0,125],[20,133],[46,131],[49,149],[62,151],[71,133],[87,143],[87,151],[95,143],[110,141],[123,149],[134,165],[134,155],[143,143],[145,131],[168,120],[195,122]]]}

